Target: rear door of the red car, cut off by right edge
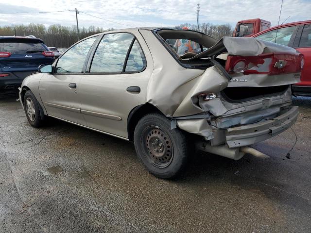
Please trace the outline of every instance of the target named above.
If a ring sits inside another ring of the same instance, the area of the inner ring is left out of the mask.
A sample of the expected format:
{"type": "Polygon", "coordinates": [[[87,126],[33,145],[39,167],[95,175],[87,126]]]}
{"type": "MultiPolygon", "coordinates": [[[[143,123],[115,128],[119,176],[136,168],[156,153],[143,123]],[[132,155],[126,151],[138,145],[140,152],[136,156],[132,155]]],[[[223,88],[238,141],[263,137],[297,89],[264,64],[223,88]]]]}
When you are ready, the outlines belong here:
{"type": "Polygon", "coordinates": [[[311,24],[300,25],[294,48],[304,55],[305,64],[301,72],[301,83],[296,85],[311,86],[311,24]]]}

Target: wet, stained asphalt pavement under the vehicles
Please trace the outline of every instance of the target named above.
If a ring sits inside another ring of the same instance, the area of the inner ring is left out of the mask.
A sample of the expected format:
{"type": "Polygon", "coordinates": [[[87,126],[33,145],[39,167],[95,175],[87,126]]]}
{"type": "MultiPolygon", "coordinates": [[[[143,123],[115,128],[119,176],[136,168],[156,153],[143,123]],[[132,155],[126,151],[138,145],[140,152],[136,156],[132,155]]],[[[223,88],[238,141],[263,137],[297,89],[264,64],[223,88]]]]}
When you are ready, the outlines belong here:
{"type": "Polygon", "coordinates": [[[233,161],[193,153],[174,181],[138,162],[134,145],[51,119],[32,128],[0,97],[0,233],[311,232],[311,98],[288,130],[233,161]]]}

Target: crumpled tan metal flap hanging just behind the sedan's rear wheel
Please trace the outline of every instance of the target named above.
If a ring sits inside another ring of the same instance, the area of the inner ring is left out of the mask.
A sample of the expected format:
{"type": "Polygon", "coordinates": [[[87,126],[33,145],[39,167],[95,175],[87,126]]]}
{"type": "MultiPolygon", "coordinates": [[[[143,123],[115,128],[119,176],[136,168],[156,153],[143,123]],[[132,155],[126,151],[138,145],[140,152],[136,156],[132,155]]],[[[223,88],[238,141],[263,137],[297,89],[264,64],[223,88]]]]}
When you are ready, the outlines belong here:
{"type": "Polygon", "coordinates": [[[207,119],[177,120],[177,125],[180,129],[188,133],[204,136],[207,140],[214,138],[213,131],[207,123],[207,119]]]}

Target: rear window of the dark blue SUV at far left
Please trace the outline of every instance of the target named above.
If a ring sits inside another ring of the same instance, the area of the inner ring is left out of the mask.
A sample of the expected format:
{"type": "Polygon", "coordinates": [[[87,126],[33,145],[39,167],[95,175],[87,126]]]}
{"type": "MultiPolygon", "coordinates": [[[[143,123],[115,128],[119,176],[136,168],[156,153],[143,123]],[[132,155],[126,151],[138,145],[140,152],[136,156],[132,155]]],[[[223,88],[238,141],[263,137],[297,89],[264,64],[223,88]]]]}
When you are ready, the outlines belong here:
{"type": "Polygon", "coordinates": [[[48,48],[39,40],[28,39],[2,39],[0,40],[0,51],[13,54],[26,54],[48,51],[48,48]]]}

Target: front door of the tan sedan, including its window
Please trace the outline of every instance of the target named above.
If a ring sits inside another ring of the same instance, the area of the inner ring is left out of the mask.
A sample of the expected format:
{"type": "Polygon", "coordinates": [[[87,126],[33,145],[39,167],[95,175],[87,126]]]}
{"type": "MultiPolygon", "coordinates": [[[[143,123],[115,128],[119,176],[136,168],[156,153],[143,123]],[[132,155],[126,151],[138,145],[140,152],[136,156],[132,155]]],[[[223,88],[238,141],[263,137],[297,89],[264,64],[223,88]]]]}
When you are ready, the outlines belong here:
{"type": "Polygon", "coordinates": [[[52,74],[44,74],[39,84],[40,97],[49,116],[86,125],[80,112],[80,80],[88,54],[98,36],[71,47],[57,60],[52,74]]]}

